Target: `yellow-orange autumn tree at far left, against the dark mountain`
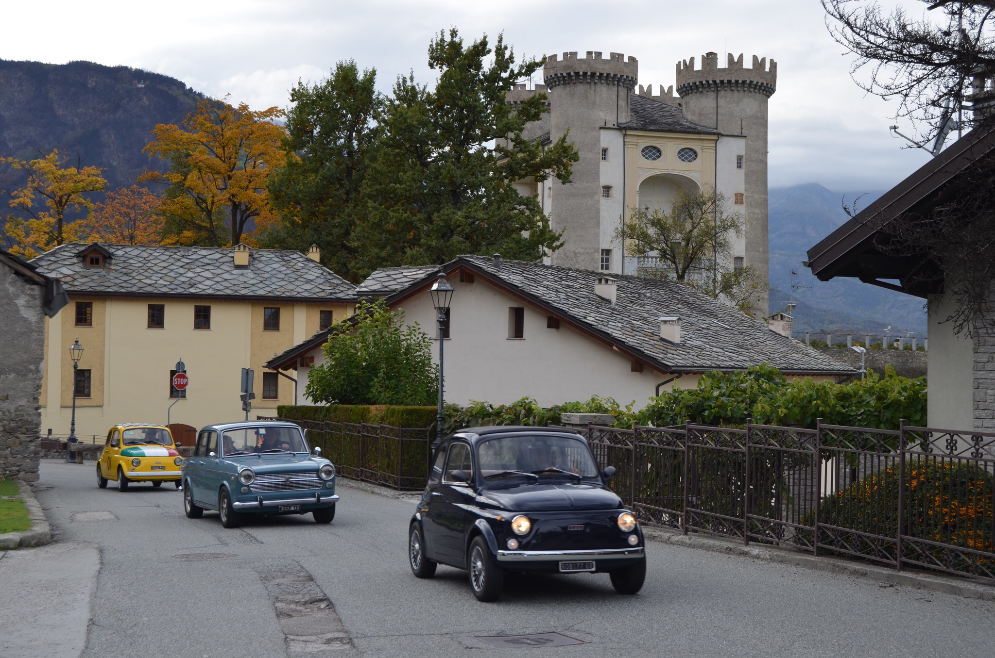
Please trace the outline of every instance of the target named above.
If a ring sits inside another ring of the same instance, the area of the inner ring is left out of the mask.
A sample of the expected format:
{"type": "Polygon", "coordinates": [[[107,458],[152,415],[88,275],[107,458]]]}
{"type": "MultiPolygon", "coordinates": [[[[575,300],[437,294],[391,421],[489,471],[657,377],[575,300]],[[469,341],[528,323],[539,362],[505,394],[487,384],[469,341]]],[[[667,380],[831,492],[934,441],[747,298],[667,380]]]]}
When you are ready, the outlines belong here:
{"type": "Polygon", "coordinates": [[[72,220],[72,214],[94,209],[89,194],[107,184],[99,167],[84,167],[79,159],[75,167],[68,166],[58,150],[30,162],[0,158],[0,164],[28,177],[23,187],[5,191],[13,211],[4,228],[11,253],[33,258],[86,237],[86,220],[72,220]]]}

